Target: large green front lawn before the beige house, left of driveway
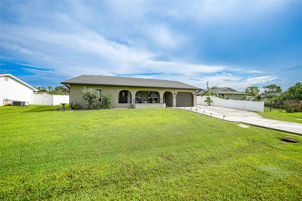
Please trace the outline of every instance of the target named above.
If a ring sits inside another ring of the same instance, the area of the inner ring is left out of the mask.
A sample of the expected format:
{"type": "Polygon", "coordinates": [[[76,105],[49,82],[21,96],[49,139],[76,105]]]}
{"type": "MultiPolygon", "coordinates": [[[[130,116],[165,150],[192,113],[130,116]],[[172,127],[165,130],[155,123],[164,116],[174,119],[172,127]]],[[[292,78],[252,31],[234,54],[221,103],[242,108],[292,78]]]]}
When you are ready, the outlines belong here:
{"type": "Polygon", "coordinates": [[[55,107],[0,107],[0,199],[301,199],[302,136],[177,109],[55,107]]]}

